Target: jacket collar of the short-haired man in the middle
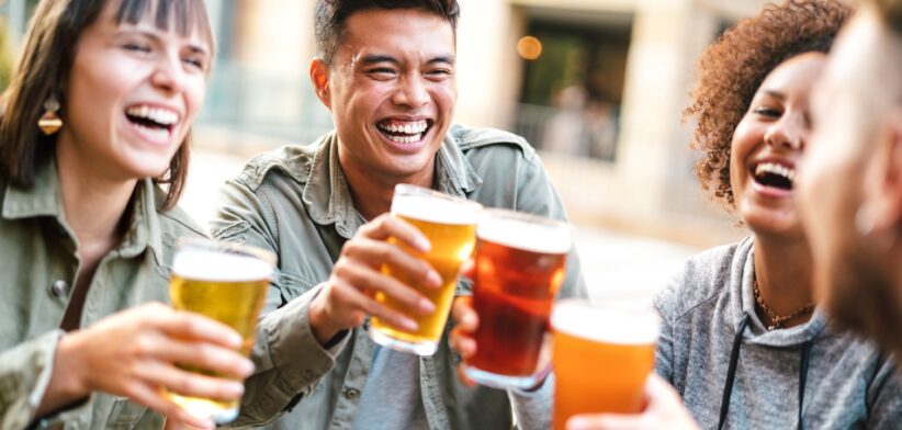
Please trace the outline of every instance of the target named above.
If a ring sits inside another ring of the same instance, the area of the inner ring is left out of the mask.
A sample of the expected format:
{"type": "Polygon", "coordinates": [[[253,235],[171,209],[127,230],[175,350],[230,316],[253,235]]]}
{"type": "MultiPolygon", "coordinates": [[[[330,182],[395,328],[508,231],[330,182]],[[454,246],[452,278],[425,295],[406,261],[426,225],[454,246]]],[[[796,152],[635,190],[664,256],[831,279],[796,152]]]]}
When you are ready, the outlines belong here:
{"type": "MultiPolygon", "coordinates": [[[[438,190],[465,197],[482,184],[482,178],[458,146],[453,129],[436,154],[438,190]]],[[[338,135],[332,132],[317,144],[302,199],[311,218],[319,225],[335,224],[342,237],[350,239],[367,223],[353,206],[348,181],[338,161],[338,135]]]]}

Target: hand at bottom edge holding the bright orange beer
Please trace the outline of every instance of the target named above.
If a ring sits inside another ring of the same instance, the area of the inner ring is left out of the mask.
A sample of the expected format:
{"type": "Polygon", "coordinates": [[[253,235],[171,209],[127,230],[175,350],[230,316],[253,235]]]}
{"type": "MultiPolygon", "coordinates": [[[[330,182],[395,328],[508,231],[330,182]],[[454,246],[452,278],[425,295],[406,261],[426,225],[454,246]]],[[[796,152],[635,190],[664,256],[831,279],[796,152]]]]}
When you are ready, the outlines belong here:
{"type": "Polygon", "coordinates": [[[649,377],[644,396],[645,409],[641,414],[577,415],[567,421],[567,430],[697,430],[699,428],[683,406],[679,394],[661,376],[652,374],[649,377]]]}

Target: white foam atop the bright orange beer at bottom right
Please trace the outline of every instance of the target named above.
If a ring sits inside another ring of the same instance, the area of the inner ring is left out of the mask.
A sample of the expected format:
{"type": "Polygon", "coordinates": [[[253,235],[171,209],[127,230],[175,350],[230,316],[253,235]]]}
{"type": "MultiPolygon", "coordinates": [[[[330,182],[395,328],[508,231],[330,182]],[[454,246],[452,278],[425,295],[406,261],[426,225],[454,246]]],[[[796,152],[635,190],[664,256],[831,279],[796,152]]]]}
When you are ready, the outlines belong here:
{"type": "Polygon", "coordinates": [[[661,319],[654,310],[595,306],[586,301],[554,304],[551,326],[577,338],[604,343],[650,344],[657,341],[661,319]]]}

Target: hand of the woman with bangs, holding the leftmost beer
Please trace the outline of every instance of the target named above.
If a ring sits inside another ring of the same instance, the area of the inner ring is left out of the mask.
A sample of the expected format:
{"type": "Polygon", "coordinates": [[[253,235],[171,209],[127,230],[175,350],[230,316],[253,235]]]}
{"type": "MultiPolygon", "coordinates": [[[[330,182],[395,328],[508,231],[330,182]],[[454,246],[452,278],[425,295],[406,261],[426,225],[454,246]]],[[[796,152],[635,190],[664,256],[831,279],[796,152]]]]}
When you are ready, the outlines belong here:
{"type": "Polygon", "coordinates": [[[38,416],[91,392],[104,392],[167,416],[171,426],[212,428],[210,419],[190,415],[161,388],[187,396],[240,398],[239,381],[253,372],[251,361],[237,352],[243,342],[228,326],[159,303],[113,314],[60,339],[38,416]],[[224,377],[189,372],[176,363],[224,377]]]}

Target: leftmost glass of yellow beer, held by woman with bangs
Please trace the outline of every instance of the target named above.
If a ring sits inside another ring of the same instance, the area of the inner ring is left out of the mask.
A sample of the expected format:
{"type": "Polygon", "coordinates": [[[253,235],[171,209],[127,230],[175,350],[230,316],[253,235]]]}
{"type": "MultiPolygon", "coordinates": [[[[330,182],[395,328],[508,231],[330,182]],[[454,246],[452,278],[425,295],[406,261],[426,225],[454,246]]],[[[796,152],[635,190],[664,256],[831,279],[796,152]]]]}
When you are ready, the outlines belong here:
{"type": "MultiPolygon", "coordinates": [[[[275,256],[259,248],[180,239],[169,282],[172,307],[201,314],[223,322],[244,338],[240,352],[247,357],[253,344],[257,318],[267,297],[275,256]]],[[[214,377],[216,372],[180,367],[214,377]]],[[[238,400],[189,397],[169,391],[169,398],[190,414],[225,423],[238,417],[238,400]]]]}

